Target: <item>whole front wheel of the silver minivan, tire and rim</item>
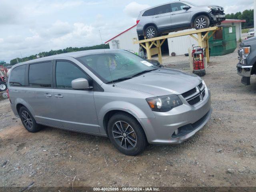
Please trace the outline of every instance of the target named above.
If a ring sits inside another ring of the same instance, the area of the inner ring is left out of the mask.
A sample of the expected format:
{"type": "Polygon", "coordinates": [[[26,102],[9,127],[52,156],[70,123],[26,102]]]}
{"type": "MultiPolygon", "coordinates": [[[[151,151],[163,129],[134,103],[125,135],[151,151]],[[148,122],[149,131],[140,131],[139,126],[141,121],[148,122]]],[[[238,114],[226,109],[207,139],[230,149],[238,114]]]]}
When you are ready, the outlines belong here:
{"type": "Polygon", "coordinates": [[[108,136],[112,144],[126,155],[138,155],[148,144],[146,135],[138,121],[133,116],[122,112],[114,114],[108,121],[108,136]]]}

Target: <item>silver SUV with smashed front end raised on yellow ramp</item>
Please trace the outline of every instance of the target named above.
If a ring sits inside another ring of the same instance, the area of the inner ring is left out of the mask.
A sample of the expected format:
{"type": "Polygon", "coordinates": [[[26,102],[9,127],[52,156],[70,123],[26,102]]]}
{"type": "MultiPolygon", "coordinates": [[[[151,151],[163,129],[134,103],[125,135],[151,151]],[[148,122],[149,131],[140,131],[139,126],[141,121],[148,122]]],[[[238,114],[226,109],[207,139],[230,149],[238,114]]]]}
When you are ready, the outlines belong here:
{"type": "Polygon", "coordinates": [[[220,6],[176,1],[142,10],[137,19],[137,32],[139,36],[154,38],[158,34],[187,28],[208,28],[223,20],[224,8],[220,6]]]}

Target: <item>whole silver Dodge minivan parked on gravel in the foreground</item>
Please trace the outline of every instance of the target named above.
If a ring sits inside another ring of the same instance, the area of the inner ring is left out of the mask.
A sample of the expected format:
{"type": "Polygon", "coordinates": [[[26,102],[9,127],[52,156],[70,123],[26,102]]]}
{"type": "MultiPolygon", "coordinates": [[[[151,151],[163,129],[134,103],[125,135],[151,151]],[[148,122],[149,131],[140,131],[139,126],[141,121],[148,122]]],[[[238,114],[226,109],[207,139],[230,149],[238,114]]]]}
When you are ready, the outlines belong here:
{"type": "Polygon", "coordinates": [[[14,114],[30,132],[44,126],[109,137],[122,153],[178,144],[209,120],[199,76],[158,68],[125,50],[88,50],[16,64],[8,79],[14,114]]]}

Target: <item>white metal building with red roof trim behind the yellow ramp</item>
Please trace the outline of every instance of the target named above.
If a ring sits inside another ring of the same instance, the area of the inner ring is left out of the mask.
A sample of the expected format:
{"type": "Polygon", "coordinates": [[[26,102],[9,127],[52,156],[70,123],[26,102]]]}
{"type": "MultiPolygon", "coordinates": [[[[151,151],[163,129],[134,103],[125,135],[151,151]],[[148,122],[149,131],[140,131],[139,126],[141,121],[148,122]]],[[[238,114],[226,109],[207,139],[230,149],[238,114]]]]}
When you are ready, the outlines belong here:
{"type": "MultiPolygon", "coordinates": [[[[242,29],[241,29],[242,22],[245,22],[245,20],[225,20],[222,22],[221,26],[236,26],[236,40],[240,41],[240,39],[242,39],[242,29]]],[[[193,29],[188,29],[188,30],[193,30],[193,29]]],[[[171,32],[170,34],[180,33],[188,30],[171,32]]],[[[110,40],[106,41],[105,44],[109,43],[109,46],[112,49],[131,50],[132,52],[138,53],[139,44],[133,44],[134,38],[138,38],[138,35],[136,32],[136,25],[114,36],[110,40]]],[[[188,48],[191,48],[192,44],[195,44],[197,46],[198,42],[190,36],[168,38],[167,52],[169,52],[169,55],[171,55],[172,52],[174,52],[176,55],[183,55],[185,53],[188,53],[188,48]]]]}

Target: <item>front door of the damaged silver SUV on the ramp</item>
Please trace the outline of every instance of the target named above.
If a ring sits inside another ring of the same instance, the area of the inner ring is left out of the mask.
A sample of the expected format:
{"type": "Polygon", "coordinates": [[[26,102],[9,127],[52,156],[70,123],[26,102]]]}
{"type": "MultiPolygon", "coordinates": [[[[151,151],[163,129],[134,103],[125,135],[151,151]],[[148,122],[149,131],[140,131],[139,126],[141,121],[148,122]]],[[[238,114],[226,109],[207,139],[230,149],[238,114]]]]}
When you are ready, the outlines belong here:
{"type": "Polygon", "coordinates": [[[172,26],[184,26],[184,25],[190,25],[190,9],[184,10],[183,7],[187,6],[184,3],[177,2],[177,3],[171,3],[171,20],[172,20],[172,26]]]}

